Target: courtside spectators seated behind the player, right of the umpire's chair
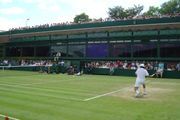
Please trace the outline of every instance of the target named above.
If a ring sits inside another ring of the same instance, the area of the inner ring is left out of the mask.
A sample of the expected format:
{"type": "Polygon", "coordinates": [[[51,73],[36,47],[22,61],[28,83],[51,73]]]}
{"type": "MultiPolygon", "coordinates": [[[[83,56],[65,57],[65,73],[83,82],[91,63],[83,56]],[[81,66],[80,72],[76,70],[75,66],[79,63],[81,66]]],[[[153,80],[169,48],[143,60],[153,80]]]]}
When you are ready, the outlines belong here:
{"type": "Polygon", "coordinates": [[[160,61],[96,61],[85,64],[85,68],[114,68],[114,69],[131,69],[136,70],[141,63],[144,63],[147,70],[158,70],[159,67],[167,71],[180,71],[179,63],[167,63],[167,68],[160,61]]]}

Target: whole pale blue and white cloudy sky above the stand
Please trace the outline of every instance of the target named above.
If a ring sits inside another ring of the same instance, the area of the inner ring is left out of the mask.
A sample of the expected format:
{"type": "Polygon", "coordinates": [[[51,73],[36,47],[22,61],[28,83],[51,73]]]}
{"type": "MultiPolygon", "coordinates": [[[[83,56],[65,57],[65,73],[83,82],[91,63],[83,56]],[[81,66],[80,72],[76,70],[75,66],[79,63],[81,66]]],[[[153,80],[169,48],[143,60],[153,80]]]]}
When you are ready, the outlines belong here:
{"type": "Polygon", "coordinates": [[[108,8],[143,5],[160,7],[169,0],[0,0],[0,31],[24,26],[72,22],[86,13],[90,18],[107,18],[108,8]]]}

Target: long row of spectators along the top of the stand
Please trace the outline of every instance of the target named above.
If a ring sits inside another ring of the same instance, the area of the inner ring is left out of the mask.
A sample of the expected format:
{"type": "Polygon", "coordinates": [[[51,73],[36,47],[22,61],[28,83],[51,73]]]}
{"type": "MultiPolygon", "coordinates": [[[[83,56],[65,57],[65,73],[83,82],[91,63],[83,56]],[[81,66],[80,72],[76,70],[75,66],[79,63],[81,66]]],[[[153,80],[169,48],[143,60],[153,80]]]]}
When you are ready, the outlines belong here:
{"type": "Polygon", "coordinates": [[[66,25],[73,25],[73,24],[88,24],[88,23],[100,23],[100,22],[107,22],[107,21],[124,21],[124,20],[137,20],[137,19],[152,19],[152,18],[170,18],[170,17],[180,17],[180,13],[177,14],[171,14],[171,15],[159,15],[159,16],[129,16],[127,18],[121,18],[121,19],[113,19],[113,18],[105,18],[105,19],[93,19],[91,21],[79,21],[78,23],[75,22],[63,22],[63,23],[52,23],[52,24],[43,24],[43,25],[36,25],[36,26],[25,26],[25,27],[19,27],[19,28],[11,28],[9,31],[16,31],[16,30],[28,30],[28,29],[36,29],[36,28],[50,28],[54,26],[66,26],[66,25]]]}

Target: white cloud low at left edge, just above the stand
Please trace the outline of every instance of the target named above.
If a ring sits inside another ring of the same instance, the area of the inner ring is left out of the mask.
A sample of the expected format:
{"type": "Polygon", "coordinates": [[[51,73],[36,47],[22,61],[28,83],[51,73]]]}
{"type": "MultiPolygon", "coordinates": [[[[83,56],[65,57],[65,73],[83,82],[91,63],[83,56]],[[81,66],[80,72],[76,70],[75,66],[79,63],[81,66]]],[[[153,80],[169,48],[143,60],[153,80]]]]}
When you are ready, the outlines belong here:
{"type": "Polygon", "coordinates": [[[20,20],[9,20],[0,17],[0,30],[9,30],[10,28],[18,28],[22,25],[20,20]]]}

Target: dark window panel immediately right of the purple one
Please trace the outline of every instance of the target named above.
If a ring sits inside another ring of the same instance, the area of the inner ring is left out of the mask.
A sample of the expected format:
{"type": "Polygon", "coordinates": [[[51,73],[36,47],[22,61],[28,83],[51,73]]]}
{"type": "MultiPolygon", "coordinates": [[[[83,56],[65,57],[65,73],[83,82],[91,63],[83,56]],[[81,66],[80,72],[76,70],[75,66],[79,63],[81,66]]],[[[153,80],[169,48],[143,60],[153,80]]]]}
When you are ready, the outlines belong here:
{"type": "Polygon", "coordinates": [[[131,57],[130,44],[111,44],[109,49],[110,57],[131,57]]]}

